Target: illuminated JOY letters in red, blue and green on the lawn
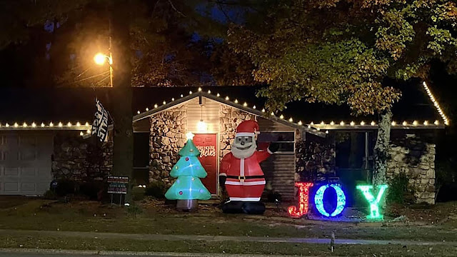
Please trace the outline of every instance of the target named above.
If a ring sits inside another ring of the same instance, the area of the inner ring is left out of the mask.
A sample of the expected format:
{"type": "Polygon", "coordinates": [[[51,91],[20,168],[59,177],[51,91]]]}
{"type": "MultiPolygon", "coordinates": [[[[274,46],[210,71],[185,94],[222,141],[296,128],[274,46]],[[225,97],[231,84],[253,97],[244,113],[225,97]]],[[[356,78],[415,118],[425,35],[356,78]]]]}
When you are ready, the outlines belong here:
{"type": "MultiPolygon", "coordinates": [[[[297,182],[295,186],[298,188],[298,208],[297,206],[289,206],[288,213],[293,217],[301,217],[308,213],[309,208],[309,188],[313,186],[311,182],[297,182]]],[[[379,213],[379,202],[383,197],[384,192],[386,191],[387,185],[379,185],[378,186],[378,196],[374,198],[373,194],[370,190],[373,186],[357,186],[363,196],[365,196],[366,201],[370,203],[370,215],[367,218],[383,218],[383,216],[379,213]]],[[[341,189],[341,186],[338,184],[326,184],[320,186],[314,195],[314,205],[319,213],[326,217],[334,217],[338,216],[341,212],[343,212],[344,207],[346,206],[346,195],[341,189]],[[336,208],[331,212],[328,213],[323,205],[323,194],[327,191],[328,188],[333,188],[336,192],[336,208]]]]}

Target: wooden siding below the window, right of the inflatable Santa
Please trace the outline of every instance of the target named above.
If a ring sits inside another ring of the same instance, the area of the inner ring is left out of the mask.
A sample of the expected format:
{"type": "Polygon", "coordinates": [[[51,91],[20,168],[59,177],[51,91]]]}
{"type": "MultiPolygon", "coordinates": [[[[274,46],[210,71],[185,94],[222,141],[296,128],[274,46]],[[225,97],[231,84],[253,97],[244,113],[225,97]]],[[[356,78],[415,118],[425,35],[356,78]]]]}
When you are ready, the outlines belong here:
{"type": "Polygon", "coordinates": [[[292,201],[295,187],[295,154],[273,154],[261,163],[266,176],[266,188],[281,194],[282,201],[292,201]]]}

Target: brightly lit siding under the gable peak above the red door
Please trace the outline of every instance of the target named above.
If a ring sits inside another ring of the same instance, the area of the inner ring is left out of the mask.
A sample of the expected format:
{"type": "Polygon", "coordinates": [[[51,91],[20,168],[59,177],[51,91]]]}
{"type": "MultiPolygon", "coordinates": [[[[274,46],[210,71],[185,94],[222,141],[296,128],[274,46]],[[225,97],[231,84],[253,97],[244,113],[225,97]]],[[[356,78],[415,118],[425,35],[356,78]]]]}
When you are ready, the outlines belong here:
{"type": "Polygon", "coordinates": [[[192,99],[187,104],[187,129],[192,133],[219,133],[219,103],[201,98],[202,105],[199,104],[199,98],[192,99]],[[208,125],[208,131],[199,131],[197,124],[203,119],[208,125]]]}

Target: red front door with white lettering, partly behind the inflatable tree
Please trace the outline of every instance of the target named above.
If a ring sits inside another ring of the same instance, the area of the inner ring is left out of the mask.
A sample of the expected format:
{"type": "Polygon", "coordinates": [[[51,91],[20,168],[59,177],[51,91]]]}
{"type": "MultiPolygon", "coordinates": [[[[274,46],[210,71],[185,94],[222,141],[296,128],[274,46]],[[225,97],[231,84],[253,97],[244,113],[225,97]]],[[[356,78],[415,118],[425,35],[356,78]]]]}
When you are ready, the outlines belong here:
{"type": "Polygon", "coordinates": [[[217,135],[195,134],[194,144],[200,151],[199,160],[208,176],[201,178],[211,194],[217,194],[217,135]]]}

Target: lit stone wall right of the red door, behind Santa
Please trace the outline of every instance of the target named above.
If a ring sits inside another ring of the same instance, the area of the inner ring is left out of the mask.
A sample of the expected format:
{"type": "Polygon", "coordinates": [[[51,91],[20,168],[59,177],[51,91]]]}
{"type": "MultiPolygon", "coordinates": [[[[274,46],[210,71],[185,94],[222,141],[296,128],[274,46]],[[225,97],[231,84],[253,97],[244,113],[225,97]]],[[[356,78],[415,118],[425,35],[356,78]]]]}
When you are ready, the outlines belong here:
{"type": "Polygon", "coordinates": [[[245,120],[256,120],[256,116],[224,104],[221,104],[219,108],[219,119],[221,121],[219,133],[219,148],[221,151],[219,151],[219,157],[222,158],[230,152],[231,144],[235,139],[235,130],[238,124],[241,124],[241,121],[245,120]]]}

